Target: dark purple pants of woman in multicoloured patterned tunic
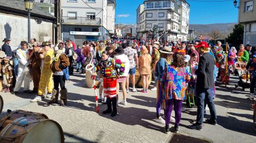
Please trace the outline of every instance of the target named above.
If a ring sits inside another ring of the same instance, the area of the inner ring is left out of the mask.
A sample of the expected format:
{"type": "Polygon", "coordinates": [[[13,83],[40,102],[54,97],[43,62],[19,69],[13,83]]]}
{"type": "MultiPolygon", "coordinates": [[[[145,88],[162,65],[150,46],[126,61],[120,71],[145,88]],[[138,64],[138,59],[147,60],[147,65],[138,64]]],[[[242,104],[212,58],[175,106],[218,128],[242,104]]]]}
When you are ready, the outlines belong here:
{"type": "Polygon", "coordinates": [[[165,110],[164,110],[164,116],[165,116],[165,125],[169,126],[171,113],[172,113],[172,105],[174,105],[174,112],[175,112],[175,125],[179,125],[180,119],[181,119],[181,106],[182,106],[182,100],[177,99],[169,99],[165,100],[165,110]]]}

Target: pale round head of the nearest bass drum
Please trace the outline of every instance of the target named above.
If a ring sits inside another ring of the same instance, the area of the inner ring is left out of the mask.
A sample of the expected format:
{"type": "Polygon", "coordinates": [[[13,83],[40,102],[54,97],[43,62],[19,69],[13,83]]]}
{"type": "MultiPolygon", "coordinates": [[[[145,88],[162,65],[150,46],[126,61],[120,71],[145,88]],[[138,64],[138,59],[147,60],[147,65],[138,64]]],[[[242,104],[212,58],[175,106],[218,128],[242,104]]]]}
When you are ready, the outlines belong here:
{"type": "Polygon", "coordinates": [[[31,129],[22,143],[62,143],[64,135],[60,125],[53,120],[41,120],[31,129]]]}

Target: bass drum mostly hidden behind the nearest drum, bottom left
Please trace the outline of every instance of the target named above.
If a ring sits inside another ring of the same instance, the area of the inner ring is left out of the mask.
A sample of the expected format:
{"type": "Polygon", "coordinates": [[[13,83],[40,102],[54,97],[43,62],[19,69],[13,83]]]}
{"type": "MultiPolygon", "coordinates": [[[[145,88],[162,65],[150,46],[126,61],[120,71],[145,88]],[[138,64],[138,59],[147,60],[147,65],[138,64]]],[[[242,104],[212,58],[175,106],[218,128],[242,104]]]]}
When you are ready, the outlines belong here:
{"type": "Polygon", "coordinates": [[[15,111],[8,110],[6,115],[4,115],[0,120],[0,125],[1,125],[0,131],[3,128],[5,128],[6,125],[11,123],[15,119],[18,119],[19,117],[28,117],[29,119],[49,119],[43,113],[36,113],[36,112],[30,112],[30,111],[24,111],[24,110],[15,110],[15,111]]]}

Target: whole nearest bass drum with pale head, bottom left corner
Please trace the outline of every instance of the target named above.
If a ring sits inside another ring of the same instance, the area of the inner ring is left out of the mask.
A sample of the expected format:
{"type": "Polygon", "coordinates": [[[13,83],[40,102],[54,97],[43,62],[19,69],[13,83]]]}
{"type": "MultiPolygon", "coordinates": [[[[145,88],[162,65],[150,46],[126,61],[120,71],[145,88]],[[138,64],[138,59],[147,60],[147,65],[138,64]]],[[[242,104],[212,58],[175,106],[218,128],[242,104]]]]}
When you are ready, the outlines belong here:
{"type": "Polygon", "coordinates": [[[62,143],[63,130],[59,123],[50,119],[20,117],[0,132],[1,143],[62,143]]]}

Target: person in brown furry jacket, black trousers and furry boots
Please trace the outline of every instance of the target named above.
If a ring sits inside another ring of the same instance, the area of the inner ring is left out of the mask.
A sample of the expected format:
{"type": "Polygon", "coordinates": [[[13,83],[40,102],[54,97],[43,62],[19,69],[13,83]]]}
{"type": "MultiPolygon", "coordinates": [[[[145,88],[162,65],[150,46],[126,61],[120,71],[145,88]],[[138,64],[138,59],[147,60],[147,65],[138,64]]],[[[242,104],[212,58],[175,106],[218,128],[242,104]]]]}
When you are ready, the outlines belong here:
{"type": "Polygon", "coordinates": [[[62,70],[69,66],[69,59],[67,55],[62,50],[62,45],[58,44],[58,47],[54,48],[53,64],[51,64],[51,69],[53,72],[53,82],[54,88],[52,90],[52,97],[49,104],[58,103],[58,97],[60,92],[60,106],[65,106],[67,104],[67,89],[65,88],[65,75],[62,70]],[[61,90],[59,91],[59,85],[61,90]]]}

